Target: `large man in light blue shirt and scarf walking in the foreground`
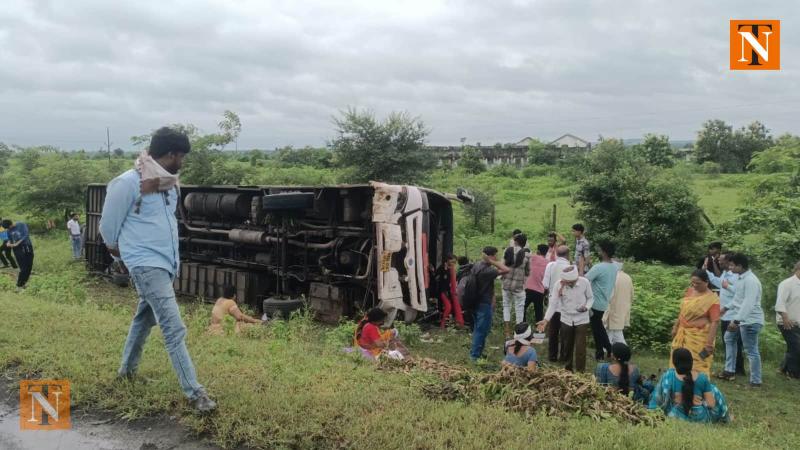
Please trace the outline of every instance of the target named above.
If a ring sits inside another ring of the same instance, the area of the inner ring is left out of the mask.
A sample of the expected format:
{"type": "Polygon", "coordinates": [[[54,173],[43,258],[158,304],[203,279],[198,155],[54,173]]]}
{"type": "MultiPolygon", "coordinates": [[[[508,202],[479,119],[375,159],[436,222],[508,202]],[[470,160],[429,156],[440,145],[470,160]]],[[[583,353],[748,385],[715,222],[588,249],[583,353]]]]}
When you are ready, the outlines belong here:
{"type": "Polygon", "coordinates": [[[100,233],[112,255],[122,258],[139,293],[122,362],[121,379],[133,379],[151,328],[158,324],[184,395],[199,412],[216,409],[197,381],[186,349],[186,326],[181,320],[172,282],[178,272],[178,223],[175,208],[178,171],[189,153],[185,134],[157,130],[149,150],[108,185],[100,233]]]}

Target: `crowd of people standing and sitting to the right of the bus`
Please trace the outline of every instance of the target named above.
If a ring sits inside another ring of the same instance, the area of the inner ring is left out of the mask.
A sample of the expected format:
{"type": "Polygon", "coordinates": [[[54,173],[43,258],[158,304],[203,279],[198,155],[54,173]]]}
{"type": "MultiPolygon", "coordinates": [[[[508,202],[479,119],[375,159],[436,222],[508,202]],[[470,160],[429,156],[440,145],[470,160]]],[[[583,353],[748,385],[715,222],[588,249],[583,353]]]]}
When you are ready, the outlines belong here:
{"type": "MultiPolygon", "coordinates": [[[[615,245],[599,242],[594,248],[599,261],[593,261],[583,225],[575,224],[572,232],[573,258],[562,235],[550,233],[546,244],[532,246],[519,230],[514,231],[502,253],[495,247],[486,247],[474,264],[458,258],[458,294],[455,299],[447,294],[449,305],[443,309],[441,326],[446,326],[449,314],[455,310],[453,305],[460,303],[456,323],[471,327],[470,358],[483,358],[496,305],[495,283],[500,279],[506,338],[503,365],[536,370],[540,366],[534,346],[538,331],[546,332],[546,353],[551,364],[584,372],[591,333],[598,362],[595,378],[599,383],[614,386],[650,408],[661,408],[670,417],[729,421],[725,397],[711,382],[712,376],[730,381],[743,375],[746,354],[749,386],[762,385],[762,289],[750,270],[749,258],[742,253],[723,252],[717,242],[709,245],[708,254],[688,280],[689,287],[672,327],[669,369],[656,380],[654,375],[644,377],[630,363],[631,351],[624,330],[630,326],[634,286],[623,263],[614,259],[615,245]],[[531,319],[534,326],[529,324],[531,319]],[[712,374],[718,332],[725,344],[724,367],[712,374]]],[[[455,259],[448,258],[449,269],[455,259]]],[[[452,272],[439,271],[436,279],[446,279],[449,286],[452,272]]],[[[445,295],[445,284],[440,284],[440,298],[445,295]]],[[[780,372],[799,378],[800,262],[793,275],[780,284],[775,311],[787,347],[780,372]]]]}

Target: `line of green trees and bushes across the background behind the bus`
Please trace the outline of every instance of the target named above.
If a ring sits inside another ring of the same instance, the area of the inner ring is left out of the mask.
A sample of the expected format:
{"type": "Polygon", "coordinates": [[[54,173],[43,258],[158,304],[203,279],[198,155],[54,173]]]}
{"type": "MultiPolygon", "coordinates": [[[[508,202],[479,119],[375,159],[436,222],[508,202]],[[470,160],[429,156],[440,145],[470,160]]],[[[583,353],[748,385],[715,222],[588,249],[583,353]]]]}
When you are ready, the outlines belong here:
{"type": "MultiPolygon", "coordinates": [[[[266,153],[258,150],[229,153],[236,145],[242,123],[225,111],[217,130],[205,133],[192,124],[174,124],[192,142],[182,182],[185,184],[334,184],[381,180],[429,184],[437,170],[471,176],[487,171],[480,153],[466,146],[458,167],[437,167],[437,155],[426,148],[430,130],[419,117],[392,113],[379,119],[371,111],[348,109],[334,118],[334,133],[325,148],[286,147],[266,153]]],[[[139,151],[149,133],[134,136],[139,151]]],[[[686,261],[708,236],[743,241],[755,229],[774,229],[768,248],[784,259],[797,255],[795,234],[781,227],[796,226],[800,208],[791,198],[797,192],[800,137],[773,138],[760,122],[734,130],[720,120],[710,120],[698,132],[692,150],[701,173],[781,173],[780,182],[757,186],[760,197],[743,206],[738,221],[711,227],[690,186],[676,183],[686,163],[664,135],[648,134],[641,142],[625,145],[601,138],[589,153],[571,153],[534,141],[528,148],[528,166],[495,167],[494,177],[513,178],[558,173],[573,180],[572,197],[579,216],[596,238],[620,243],[622,255],[667,262],[686,261]],[[678,167],[676,167],[678,166],[678,167]],[[766,201],[764,199],[769,199],[766,201]],[[795,208],[795,209],[793,209],[795,208]],[[660,243],[653,245],[653,243],[660,243]],[[781,250],[783,249],[783,250],[781,250]]],[[[33,218],[58,218],[81,210],[86,185],[107,182],[132,165],[135,153],[115,152],[110,163],[97,154],[64,152],[54,147],[8,147],[0,143],[0,177],[10,195],[0,200],[3,210],[23,211],[33,218]],[[10,163],[13,161],[13,164],[10,163]]],[[[105,156],[108,156],[107,153],[105,156]]],[[[466,222],[475,233],[485,233],[491,214],[491,190],[475,192],[477,202],[465,209],[466,222]]],[[[796,228],[784,228],[796,229],[796,228]]]]}

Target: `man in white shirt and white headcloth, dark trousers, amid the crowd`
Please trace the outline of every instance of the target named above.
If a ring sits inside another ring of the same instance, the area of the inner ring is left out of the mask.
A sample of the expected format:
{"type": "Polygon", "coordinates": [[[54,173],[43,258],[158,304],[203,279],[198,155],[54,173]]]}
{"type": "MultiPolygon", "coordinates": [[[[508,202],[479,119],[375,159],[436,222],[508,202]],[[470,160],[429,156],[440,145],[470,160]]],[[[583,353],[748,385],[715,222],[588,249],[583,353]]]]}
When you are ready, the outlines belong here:
{"type": "Polygon", "coordinates": [[[567,370],[586,370],[586,334],[589,309],[592,307],[592,284],[578,275],[578,268],[568,266],[559,274],[559,282],[550,291],[550,304],[544,320],[536,326],[541,333],[556,313],[561,313],[561,361],[567,370]]]}

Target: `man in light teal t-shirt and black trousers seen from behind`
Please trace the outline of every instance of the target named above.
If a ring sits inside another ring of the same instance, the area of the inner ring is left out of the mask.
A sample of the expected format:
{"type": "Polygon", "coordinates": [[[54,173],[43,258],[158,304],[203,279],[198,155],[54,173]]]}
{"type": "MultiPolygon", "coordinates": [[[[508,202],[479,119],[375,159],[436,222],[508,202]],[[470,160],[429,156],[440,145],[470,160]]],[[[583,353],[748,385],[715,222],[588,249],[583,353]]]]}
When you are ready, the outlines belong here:
{"type": "Polygon", "coordinates": [[[603,326],[603,314],[608,309],[608,303],[614,293],[619,267],[611,260],[616,251],[613,243],[600,242],[597,247],[601,262],[589,269],[586,279],[592,283],[592,296],[594,297],[589,323],[594,336],[595,358],[602,360],[606,357],[604,351],[609,357],[611,356],[611,341],[608,339],[605,326],[603,326]]]}

